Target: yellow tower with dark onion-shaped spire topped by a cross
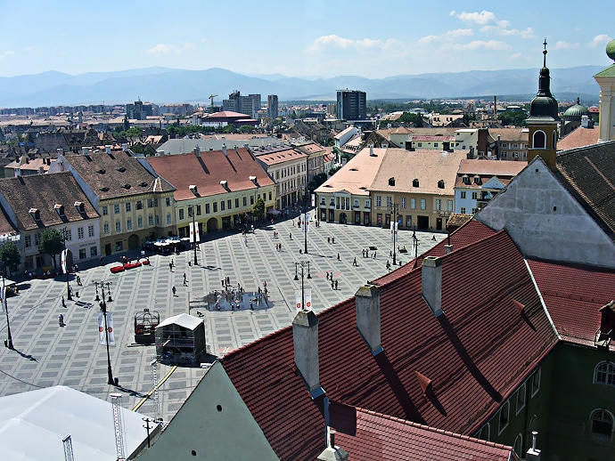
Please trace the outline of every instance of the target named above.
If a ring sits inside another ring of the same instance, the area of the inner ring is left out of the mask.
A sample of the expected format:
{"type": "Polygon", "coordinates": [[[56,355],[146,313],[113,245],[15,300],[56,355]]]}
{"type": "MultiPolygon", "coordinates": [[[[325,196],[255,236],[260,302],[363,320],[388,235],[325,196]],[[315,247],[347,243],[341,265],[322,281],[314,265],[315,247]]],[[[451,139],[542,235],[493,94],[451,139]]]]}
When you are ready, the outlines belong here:
{"type": "Polygon", "coordinates": [[[560,117],[557,115],[557,101],[551,94],[551,77],[546,67],[546,39],[543,51],[543,68],[538,77],[538,93],[531,102],[529,117],[528,162],[540,156],[550,168],[555,168],[557,153],[557,126],[560,117]]]}

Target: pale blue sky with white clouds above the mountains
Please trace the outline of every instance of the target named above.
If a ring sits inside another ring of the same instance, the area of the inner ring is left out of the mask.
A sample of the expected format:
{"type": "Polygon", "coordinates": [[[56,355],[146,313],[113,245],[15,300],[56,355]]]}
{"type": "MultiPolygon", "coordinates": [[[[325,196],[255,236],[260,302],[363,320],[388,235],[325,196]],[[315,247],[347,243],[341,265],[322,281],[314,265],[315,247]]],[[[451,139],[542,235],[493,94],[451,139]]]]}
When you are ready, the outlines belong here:
{"type": "Polygon", "coordinates": [[[161,66],[288,77],[611,63],[611,0],[0,0],[0,76],[161,66]]]}

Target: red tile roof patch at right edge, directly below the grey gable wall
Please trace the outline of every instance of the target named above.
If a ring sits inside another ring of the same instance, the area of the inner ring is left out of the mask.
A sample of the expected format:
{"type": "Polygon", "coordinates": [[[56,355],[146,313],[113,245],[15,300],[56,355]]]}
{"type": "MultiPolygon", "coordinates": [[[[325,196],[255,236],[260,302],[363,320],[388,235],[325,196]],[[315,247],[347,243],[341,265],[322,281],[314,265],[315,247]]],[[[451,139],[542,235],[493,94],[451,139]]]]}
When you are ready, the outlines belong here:
{"type": "Polygon", "coordinates": [[[615,270],[528,263],[562,340],[594,347],[599,310],[615,299],[615,270]]]}

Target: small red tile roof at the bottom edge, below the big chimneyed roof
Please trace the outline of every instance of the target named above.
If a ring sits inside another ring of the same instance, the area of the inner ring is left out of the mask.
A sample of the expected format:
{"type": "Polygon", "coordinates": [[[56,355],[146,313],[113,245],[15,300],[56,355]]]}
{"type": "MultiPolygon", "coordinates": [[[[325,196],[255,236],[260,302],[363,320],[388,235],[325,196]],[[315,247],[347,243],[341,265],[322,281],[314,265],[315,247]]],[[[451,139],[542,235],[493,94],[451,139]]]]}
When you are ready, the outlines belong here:
{"type": "Polygon", "coordinates": [[[388,417],[357,408],[357,432],[337,433],[335,444],[353,447],[353,461],[425,459],[509,461],[518,459],[512,447],[388,417]]]}

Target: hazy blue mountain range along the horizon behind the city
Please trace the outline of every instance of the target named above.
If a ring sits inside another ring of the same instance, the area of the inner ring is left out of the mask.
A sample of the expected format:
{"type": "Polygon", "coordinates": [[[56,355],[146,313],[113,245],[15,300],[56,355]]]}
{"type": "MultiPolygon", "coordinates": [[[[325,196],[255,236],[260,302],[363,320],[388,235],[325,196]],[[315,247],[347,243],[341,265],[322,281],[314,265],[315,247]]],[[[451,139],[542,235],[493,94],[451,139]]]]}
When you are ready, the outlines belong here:
{"type": "MultiPolygon", "coordinates": [[[[594,74],[600,66],[551,69],[556,99],[585,104],[598,101],[594,74]]],[[[39,107],[136,101],[219,103],[229,93],[277,94],[280,101],[334,101],[341,88],[361,90],[368,100],[430,98],[493,98],[506,95],[530,98],[536,94],[538,69],[471,70],[469,72],[405,75],[387,78],[340,76],[247,76],[225,69],[181,70],[166,68],[94,72],[71,76],[49,71],[42,74],[0,77],[0,107],[39,107]]]]}

